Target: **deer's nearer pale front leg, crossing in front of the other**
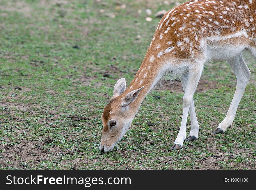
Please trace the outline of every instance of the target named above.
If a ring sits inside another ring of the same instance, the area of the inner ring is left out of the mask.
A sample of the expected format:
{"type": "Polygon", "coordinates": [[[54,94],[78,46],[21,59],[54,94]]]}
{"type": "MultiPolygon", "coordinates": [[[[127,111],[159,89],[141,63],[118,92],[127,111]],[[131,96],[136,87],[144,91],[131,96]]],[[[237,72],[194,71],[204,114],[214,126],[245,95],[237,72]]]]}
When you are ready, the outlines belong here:
{"type": "Polygon", "coordinates": [[[183,96],[183,114],[182,121],[179,129],[179,133],[177,138],[174,141],[172,150],[178,150],[182,148],[183,141],[186,138],[186,123],[188,119],[189,107],[192,103],[193,95],[195,93],[195,89],[198,85],[200,76],[202,74],[204,62],[197,64],[197,67],[188,69],[188,80],[185,87],[185,92],[183,96]]]}

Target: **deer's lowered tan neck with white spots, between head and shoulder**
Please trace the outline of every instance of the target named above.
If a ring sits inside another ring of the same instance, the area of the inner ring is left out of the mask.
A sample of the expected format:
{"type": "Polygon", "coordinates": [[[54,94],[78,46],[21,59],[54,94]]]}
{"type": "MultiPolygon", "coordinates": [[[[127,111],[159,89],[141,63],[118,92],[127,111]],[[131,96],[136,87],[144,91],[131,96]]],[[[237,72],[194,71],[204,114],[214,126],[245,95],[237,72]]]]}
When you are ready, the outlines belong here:
{"type": "Polygon", "coordinates": [[[153,62],[154,56],[145,56],[137,74],[123,93],[125,95],[135,89],[139,89],[140,87],[144,86],[136,100],[129,105],[129,110],[134,113],[134,116],[138,112],[138,109],[144,98],[162,76],[162,69],[159,67],[159,65],[156,65],[155,63],[152,64],[153,62]]]}

